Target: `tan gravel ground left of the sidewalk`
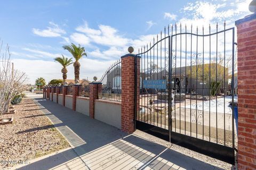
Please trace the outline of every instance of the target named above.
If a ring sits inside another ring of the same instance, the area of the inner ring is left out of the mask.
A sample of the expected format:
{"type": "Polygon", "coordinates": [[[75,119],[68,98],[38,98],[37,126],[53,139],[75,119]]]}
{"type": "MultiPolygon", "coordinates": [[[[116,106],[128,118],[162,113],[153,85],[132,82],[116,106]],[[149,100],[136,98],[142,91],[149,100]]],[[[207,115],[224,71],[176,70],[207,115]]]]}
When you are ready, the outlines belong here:
{"type": "Polygon", "coordinates": [[[3,160],[25,161],[69,147],[33,100],[23,99],[13,106],[15,114],[0,116],[14,117],[12,124],[0,125],[0,169],[14,166],[3,160]]]}

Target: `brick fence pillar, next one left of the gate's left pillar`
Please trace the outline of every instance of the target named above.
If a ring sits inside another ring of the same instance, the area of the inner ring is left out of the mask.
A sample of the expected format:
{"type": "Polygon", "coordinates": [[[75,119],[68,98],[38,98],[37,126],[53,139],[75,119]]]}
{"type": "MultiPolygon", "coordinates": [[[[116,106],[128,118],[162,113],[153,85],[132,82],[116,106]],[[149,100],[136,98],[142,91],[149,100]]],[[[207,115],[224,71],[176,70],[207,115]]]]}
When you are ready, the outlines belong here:
{"type": "Polygon", "coordinates": [[[101,82],[90,83],[90,109],[89,114],[91,118],[94,118],[94,102],[98,99],[99,88],[102,86],[101,82]]]}

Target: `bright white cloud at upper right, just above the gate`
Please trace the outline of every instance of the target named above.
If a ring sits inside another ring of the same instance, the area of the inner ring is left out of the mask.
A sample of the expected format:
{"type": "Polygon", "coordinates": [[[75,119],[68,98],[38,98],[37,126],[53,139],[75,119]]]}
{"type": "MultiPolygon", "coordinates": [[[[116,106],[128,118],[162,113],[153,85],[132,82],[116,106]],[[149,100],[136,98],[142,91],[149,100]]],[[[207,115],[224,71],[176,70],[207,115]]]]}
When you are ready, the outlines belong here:
{"type": "MultiPolygon", "coordinates": [[[[186,17],[180,19],[179,22],[187,25],[209,25],[210,23],[223,22],[224,20],[231,20],[228,25],[234,27],[234,21],[238,18],[242,18],[246,14],[249,14],[248,4],[249,0],[242,1],[230,1],[227,0],[222,4],[215,4],[214,1],[196,1],[195,3],[188,3],[183,7],[183,12],[186,13],[186,17]]],[[[219,25],[222,25],[219,24],[219,25]]]]}

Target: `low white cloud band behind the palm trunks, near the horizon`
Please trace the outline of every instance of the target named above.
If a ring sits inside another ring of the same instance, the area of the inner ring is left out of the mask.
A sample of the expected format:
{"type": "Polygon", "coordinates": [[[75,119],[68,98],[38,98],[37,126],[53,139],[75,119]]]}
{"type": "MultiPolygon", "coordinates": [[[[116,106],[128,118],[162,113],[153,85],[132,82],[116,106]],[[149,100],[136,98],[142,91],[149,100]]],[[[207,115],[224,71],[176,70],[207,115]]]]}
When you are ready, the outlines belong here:
{"type": "MultiPolygon", "coordinates": [[[[38,77],[43,77],[46,83],[52,79],[62,79],[61,65],[54,61],[44,61],[44,60],[26,60],[26,59],[13,59],[14,69],[25,72],[28,75],[29,83],[34,84],[38,77]]],[[[115,61],[100,61],[92,60],[90,58],[81,58],[79,60],[81,63],[80,68],[80,78],[93,81],[93,77],[101,78],[102,74],[107,70],[107,68],[113,64],[115,61]]],[[[67,67],[68,79],[74,79],[74,67],[72,65],[67,67]]]]}

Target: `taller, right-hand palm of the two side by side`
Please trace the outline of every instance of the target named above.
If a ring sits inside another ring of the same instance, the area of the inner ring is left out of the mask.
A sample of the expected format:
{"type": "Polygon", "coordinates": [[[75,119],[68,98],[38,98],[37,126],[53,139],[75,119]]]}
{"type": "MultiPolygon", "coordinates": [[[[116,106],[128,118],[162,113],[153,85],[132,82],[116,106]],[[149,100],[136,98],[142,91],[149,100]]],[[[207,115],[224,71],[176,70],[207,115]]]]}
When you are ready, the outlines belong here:
{"type": "Polygon", "coordinates": [[[87,54],[85,53],[85,49],[84,47],[81,47],[80,45],[78,45],[78,47],[71,43],[71,45],[67,46],[63,46],[64,49],[67,49],[69,51],[69,53],[71,53],[73,55],[73,57],[75,58],[75,62],[74,62],[74,70],[75,70],[75,80],[79,80],[79,72],[80,72],[80,63],[78,62],[78,60],[80,58],[82,58],[83,55],[87,56],[87,54]]]}

